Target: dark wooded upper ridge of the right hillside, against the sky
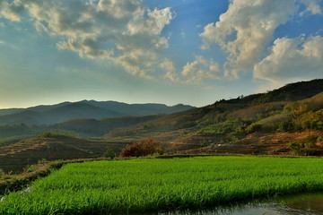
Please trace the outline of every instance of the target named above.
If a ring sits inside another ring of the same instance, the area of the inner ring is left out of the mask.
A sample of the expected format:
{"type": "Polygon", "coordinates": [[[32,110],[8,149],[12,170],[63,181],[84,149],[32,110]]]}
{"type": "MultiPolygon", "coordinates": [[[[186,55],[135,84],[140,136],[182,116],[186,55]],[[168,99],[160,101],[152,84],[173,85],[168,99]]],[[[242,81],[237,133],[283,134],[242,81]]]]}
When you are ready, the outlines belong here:
{"type": "MultiPolygon", "coordinates": [[[[107,135],[111,137],[120,136],[122,135],[122,130],[133,130],[134,133],[143,133],[143,131],[151,133],[153,131],[166,132],[184,128],[207,130],[207,126],[231,126],[232,128],[232,126],[251,124],[270,116],[282,114],[285,105],[296,102],[299,98],[308,99],[316,96],[322,91],[323,80],[291,83],[278,90],[269,91],[264,94],[255,94],[230,100],[222,99],[215,102],[213,105],[165,115],[139,125],[109,132],[107,135]],[[295,89],[298,89],[299,87],[306,92],[304,95],[299,93],[294,96],[289,96],[298,91],[295,89]],[[279,98],[282,100],[277,101],[274,95],[280,95],[279,98]],[[260,100],[266,101],[259,103],[260,100]]],[[[319,96],[317,97],[319,98],[319,96]]],[[[311,100],[318,99],[315,99],[314,97],[311,100]]],[[[320,103],[321,101],[318,100],[318,102],[320,103]]],[[[284,114],[284,116],[285,115],[287,114],[284,114]]]]}

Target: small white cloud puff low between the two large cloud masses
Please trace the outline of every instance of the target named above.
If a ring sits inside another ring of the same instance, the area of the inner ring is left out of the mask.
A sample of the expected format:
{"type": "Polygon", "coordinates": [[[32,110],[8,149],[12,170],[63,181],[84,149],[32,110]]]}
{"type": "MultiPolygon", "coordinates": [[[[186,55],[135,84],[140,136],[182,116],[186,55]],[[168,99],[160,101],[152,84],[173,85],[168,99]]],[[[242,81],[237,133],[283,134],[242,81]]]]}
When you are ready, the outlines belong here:
{"type": "Polygon", "coordinates": [[[200,83],[204,79],[220,79],[219,64],[213,59],[206,60],[203,56],[196,56],[194,62],[183,67],[181,75],[187,83],[200,83]]]}

